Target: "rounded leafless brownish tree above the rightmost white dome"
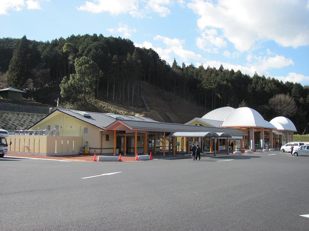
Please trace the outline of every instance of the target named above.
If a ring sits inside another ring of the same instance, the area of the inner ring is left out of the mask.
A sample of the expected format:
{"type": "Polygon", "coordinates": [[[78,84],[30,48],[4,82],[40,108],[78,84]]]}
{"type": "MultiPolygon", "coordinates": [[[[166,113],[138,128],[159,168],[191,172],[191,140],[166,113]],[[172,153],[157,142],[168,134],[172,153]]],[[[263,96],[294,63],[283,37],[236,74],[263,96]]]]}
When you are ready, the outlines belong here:
{"type": "Polygon", "coordinates": [[[293,116],[297,112],[295,100],[290,95],[277,94],[268,101],[269,107],[278,116],[293,116]]]}

